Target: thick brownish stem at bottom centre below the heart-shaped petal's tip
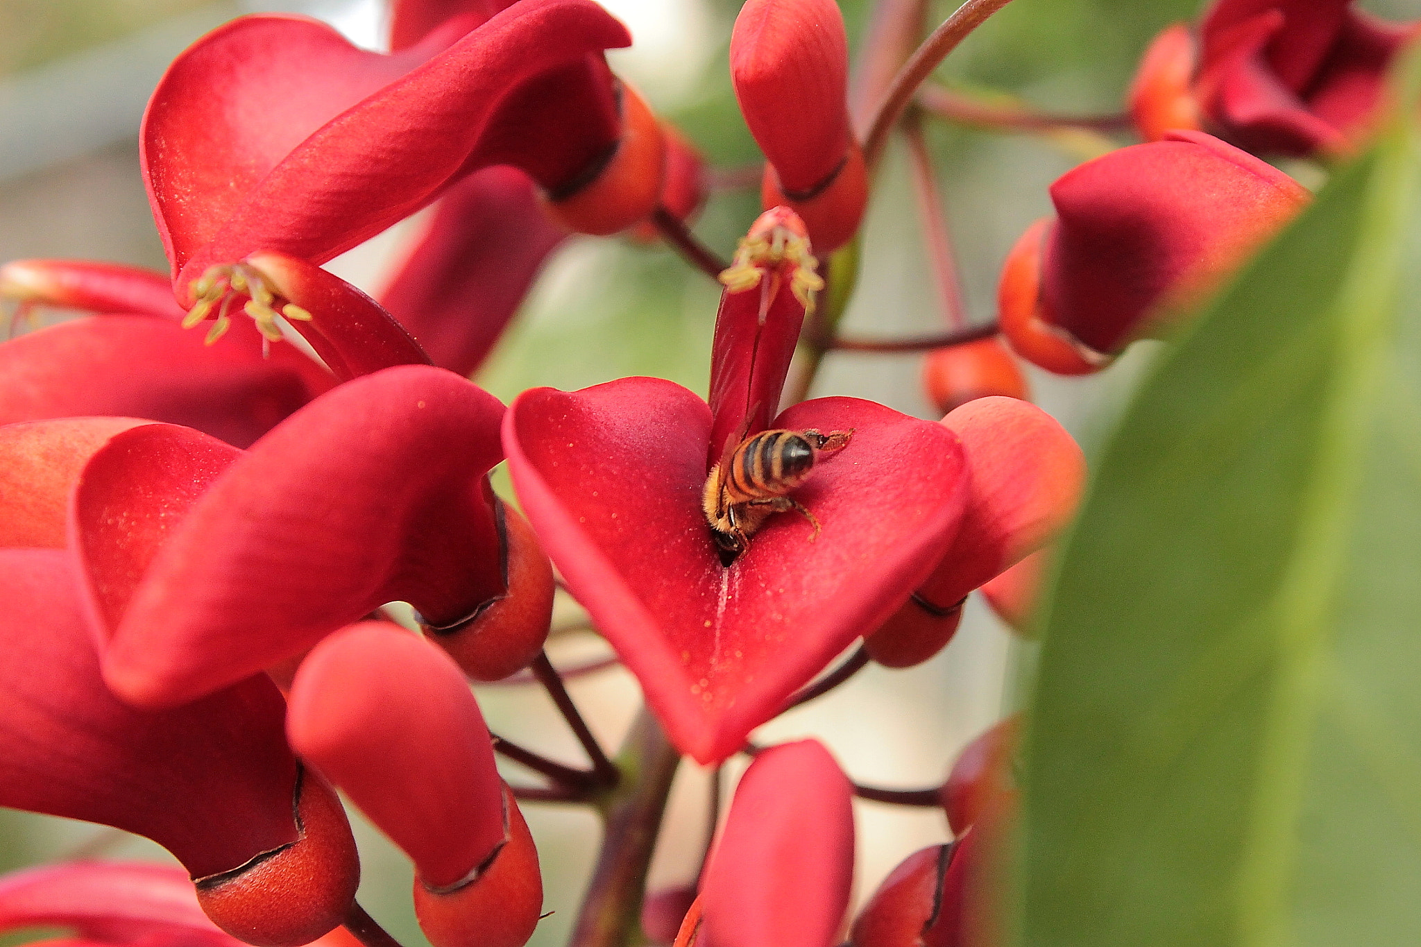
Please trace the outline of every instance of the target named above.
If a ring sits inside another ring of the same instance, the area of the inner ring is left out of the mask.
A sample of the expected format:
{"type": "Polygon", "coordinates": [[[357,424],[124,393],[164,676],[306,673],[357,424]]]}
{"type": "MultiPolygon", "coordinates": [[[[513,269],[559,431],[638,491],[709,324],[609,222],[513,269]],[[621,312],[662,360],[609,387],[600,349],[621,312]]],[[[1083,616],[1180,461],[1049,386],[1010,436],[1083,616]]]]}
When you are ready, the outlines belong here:
{"type": "Polygon", "coordinates": [[[568,947],[631,947],[641,943],[647,869],[681,757],[661,724],[642,707],[618,754],[627,772],[603,804],[603,848],[568,947]]]}

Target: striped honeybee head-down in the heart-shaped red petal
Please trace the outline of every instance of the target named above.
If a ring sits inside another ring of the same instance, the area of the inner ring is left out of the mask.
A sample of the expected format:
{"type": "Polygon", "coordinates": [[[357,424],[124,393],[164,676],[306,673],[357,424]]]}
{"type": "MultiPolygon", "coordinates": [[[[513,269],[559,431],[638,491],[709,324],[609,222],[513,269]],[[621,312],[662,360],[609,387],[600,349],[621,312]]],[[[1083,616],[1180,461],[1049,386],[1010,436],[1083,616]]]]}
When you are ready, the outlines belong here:
{"type": "MultiPolygon", "coordinates": [[[[818,535],[818,520],[787,494],[814,470],[821,454],[843,450],[850,430],[762,430],[740,440],[735,450],[710,469],[701,507],[716,545],[739,554],[764,521],[787,510],[799,510],[818,535]]],[[[810,537],[810,541],[814,540],[810,537]]]]}

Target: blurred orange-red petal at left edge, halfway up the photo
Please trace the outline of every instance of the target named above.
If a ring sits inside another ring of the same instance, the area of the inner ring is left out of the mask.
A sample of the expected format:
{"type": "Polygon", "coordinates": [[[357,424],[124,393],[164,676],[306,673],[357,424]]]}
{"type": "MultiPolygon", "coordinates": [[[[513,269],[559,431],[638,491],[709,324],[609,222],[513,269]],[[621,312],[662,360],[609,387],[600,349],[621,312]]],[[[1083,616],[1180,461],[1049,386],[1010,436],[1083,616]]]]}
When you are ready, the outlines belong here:
{"type": "Polygon", "coordinates": [[[0,548],[63,549],[70,491],[109,437],[148,422],[67,417],[0,427],[0,548]]]}

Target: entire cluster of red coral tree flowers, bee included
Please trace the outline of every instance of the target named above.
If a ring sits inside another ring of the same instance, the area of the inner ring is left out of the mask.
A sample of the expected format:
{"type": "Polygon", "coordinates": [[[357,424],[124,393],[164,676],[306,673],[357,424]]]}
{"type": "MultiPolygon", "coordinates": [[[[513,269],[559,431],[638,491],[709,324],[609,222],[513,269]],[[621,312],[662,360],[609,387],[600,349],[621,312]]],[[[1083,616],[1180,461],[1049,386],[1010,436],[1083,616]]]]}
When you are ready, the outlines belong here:
{"type": "MultiPolygon", "coordinates": [[[[1083,373],[1171,328],[1309,199],[1196,125],[1339,152],[1404,34],[1340,1],[1221,0],[1195,68],[1167,33],[1134,94],[1155,141],[1056,182],[1056,216],[1006,261],[1010,346],[1083,373]]],[[[94,314],[0,344],[0,804],[146,835],[192,880],[11,877],[0,927],[337,947],[328,931],[361,926],[340,789],[414,862],[435,947],[526,943],[537,852],[469,681],[557,677],[556,566],[639,681],[672,771],[755,755],[693,906],[666,902],[678,943],[834,943],[855,787],[818,743],[762,750],[752,731],[858,640],[851,660],[929,659],[975,589],[1027,629],[1084,459],[996,338],[934,356],[941,422],[782,406],[797,346],[827,346],[833,321],[811,317],[843,287],[823,258],[854,239],[871,180],[831,0],[749,0],[730,37],[766,210],[708,267],[723,285],[708,398],[622,378],[504,407],[466,381],[570,234],[695,248],[705,169],[608,68],[630,41],[593,0],[405,0],[388,54],[242,17],[178,57],[144,119],[171,273],[0,268],[24,307],[94,314]],[[378,300],[321,268],[425,207],[378,300]],[[490,486],[504,460],[523,513],[490,486]],[[396,601],[418,629],[388,620],[396,601]]],[[[941,791],[958,841],[884,882],[855,947],[990,943],[980,890],[1015,805],[1015,730],[963,752],[941,791]]],[[[611,811],[647,761],[593,757],[516,758],[583,791],[553,798],[611,811]]]]}

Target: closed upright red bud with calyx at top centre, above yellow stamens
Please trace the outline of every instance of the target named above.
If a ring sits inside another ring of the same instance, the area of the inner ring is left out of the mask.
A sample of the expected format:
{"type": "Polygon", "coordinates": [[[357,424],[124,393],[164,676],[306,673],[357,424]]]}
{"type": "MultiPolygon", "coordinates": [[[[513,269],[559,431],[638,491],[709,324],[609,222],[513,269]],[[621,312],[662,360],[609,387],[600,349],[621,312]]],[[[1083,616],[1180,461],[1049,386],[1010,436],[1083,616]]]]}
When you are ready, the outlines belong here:
{"type": "Polygon", "coordinates": [[[858,230],[868,195],[838,4],[747,0],[730,34],[730,80],[769,160],[764,207],[791,207],[820,253],[837,250],[858,230]]]}

